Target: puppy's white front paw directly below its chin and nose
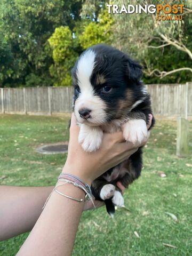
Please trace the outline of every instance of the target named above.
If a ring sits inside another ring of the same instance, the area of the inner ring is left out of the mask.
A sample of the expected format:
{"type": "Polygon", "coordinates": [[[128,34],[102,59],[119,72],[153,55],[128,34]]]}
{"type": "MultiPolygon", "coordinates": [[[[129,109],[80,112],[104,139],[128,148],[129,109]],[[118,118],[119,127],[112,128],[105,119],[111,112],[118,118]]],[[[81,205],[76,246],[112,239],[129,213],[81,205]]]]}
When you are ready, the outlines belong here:
{"type": "Polygon", "coordinates": [[[103,132],[99,127],[81,125],[78,142],[86,152],[92,152],[100,148],[103,132]]]}

